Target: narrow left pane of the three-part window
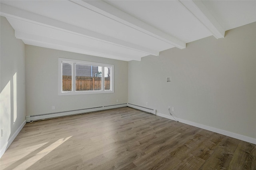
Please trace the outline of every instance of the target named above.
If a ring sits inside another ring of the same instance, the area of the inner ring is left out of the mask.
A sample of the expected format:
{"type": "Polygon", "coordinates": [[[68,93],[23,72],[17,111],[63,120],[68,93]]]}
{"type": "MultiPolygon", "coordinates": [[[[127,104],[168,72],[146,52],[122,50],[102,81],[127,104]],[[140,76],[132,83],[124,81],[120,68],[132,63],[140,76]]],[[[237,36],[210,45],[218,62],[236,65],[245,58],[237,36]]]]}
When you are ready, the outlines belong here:
{"type": "Polygon", "coordinates": [[[62,63],[62,91],[72,91],[71,63],[62,63]]]}

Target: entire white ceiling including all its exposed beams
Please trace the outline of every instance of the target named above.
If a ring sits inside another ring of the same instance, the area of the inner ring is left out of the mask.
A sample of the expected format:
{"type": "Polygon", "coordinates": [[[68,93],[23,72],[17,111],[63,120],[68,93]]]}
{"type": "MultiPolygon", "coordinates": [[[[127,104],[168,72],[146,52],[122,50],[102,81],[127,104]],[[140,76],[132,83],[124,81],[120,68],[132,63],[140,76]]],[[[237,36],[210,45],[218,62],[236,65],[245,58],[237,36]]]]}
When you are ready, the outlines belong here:
{"type": "Polygon", "coordinates": [[[256,22],[256,1],[1,0],[0,12],[25,44],[140,61],[256,22]]]}

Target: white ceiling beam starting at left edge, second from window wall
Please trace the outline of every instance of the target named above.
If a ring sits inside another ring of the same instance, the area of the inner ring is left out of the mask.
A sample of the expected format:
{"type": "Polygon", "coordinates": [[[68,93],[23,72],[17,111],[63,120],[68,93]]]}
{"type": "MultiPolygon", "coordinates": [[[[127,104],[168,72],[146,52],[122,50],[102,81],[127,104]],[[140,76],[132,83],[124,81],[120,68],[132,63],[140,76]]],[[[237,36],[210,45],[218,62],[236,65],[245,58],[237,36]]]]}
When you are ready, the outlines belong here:
{"type": "Polygon", "coordinates": [[[34,14],[31,12],[27,12],[18,8],[14,8],[12,6],[8,6],[5,4],[1,4],[1,16],[9,17],[9,18],[14,18],[18,20],[22,20],[25,22],[30,22],[33,24],[37,24],[40,26],[45,26],[48,28],[53,28],[56,30],[60,30],[63,32],[68,32],[71,34],[79,35],[79,36],[84,36],[86,38],[90,38],[92,40],[98,40],[100,42],[104,43],[109,43],[112,45],[116,45],[119,47],[124,47],[127,49],[132,49],[135,51],[139,51],[142,53],[147,53],[148,55],[159,55],[159,51],[153,50],[153,49],[148,49],[146,47],[142,47],[140,45],[136,45],[130,42],[126,42],[123,40],[119,40],[110,36],[106,36],[97,32],[93,32],[84,28],[80,28],[77,26],[73,26],[71,24],[67,24],[64,22],[60,22],[58,20],[54,20],[51,18],[47,18],[38,14],[34,14]]]}

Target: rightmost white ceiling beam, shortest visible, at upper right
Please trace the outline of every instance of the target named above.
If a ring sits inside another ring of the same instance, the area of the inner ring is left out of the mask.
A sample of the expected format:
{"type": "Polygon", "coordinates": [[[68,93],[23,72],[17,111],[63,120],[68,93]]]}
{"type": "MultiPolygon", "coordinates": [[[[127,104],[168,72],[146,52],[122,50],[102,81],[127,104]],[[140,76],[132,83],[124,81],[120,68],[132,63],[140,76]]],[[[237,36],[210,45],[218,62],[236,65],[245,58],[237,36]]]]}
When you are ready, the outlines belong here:
{"type": "Polygon", "coordinates": [[[212,32],[212,35],[215,38],[224,38],[224,29],[222,28],[222,26],[220,26],[218,21],[212,16],[212,14],[200,0],[180,0],[180,2],[182,6],[184,6],[210,32],[212,32]]]}

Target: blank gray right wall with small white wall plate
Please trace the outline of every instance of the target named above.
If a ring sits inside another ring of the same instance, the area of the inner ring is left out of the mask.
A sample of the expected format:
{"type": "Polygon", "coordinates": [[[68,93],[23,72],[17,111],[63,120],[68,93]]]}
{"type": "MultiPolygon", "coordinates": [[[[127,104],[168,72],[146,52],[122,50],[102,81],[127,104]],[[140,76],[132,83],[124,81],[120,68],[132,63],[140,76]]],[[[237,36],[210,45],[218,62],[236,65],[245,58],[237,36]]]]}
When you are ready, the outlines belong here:
{"type": "Polygon", "coordinates": [[[128,103],[256,138],[256,23],[129,61],[128,103]]]}

